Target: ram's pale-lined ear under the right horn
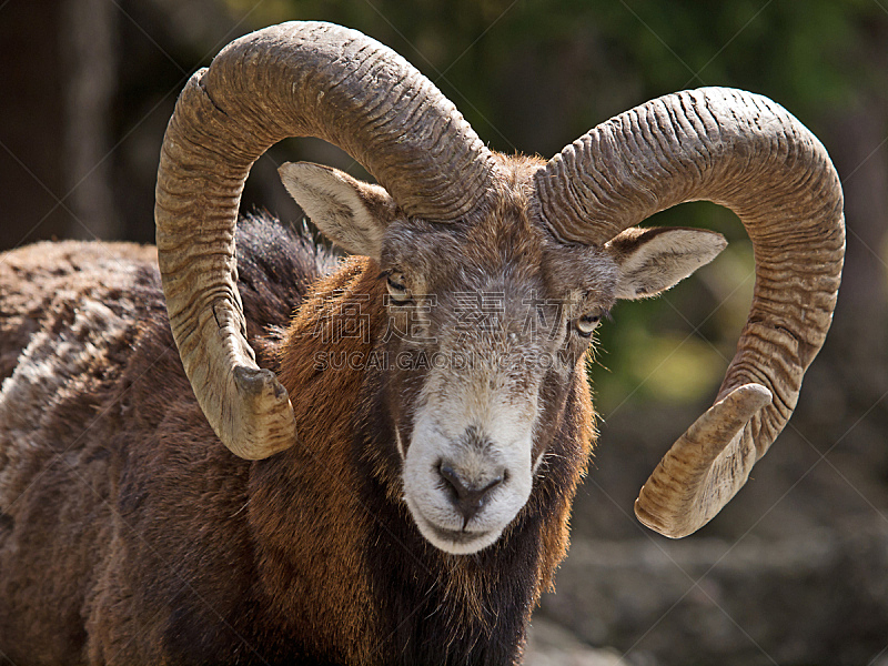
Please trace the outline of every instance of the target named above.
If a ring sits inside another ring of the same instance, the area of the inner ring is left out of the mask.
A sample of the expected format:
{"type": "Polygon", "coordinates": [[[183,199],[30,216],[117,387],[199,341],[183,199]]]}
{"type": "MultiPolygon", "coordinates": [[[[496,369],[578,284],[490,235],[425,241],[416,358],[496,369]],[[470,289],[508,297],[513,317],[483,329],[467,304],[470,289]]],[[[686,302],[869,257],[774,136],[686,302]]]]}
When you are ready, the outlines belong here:
{"type": "Polygon", "coordinates": [[[619,269],[617,299],[658,294],[713,261],[727,246],[714,231],[657,226],[629,228],[605,243],[619,269]]]}

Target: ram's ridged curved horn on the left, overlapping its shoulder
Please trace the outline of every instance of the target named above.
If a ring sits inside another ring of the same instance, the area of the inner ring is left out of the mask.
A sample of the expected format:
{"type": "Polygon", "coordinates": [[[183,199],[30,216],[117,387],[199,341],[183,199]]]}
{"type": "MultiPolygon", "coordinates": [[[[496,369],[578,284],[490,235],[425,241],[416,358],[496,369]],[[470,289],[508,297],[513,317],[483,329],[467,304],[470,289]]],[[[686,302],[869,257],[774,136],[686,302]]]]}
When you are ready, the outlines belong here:
{"type": "Polygon", "coordinates": [[[170,324],[198,402],[236,455],[295,442],[286,391],[245,337],[234,228],[253,162],[286,137],[319,137],[360,161],[408,214],[481,205],[491,153],[403,58],[339,26],[293,22],[233,41],[176,102],[158,170],[157,241],[170,324]]]}

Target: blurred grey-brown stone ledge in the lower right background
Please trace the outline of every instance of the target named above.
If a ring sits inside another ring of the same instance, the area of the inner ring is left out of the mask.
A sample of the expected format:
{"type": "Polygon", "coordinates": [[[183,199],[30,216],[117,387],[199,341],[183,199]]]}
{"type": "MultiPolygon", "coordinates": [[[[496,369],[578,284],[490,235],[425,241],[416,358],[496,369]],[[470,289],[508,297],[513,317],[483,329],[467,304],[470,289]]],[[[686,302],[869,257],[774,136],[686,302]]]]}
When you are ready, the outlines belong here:
{"type": "Polygon", "coordinates": [[[622,664],[869,664],[888,647],[888,522],[776,541],[575,539],[534,624],[546,619],[622,664]]]}

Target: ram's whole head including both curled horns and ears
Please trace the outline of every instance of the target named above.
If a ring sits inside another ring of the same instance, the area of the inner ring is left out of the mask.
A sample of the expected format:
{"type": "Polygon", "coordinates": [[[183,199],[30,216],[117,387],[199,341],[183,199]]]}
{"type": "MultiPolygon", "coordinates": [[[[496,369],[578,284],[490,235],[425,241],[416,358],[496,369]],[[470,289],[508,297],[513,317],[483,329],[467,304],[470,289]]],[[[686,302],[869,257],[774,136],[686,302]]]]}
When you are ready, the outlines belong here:
{"type": "Polygon", "coordinates": [[[330,239],[379,264],[402,333],[384,341],[390,361],[408,359],[384,370],[393,445],[407,506],[433,544],[471,553],[497,538],[584,381],[597,321],[616,299],[668,289],[722,250],[710,232],[636,226],[689,200],[740,218],[755,295],[716,403],[663,458],[636,513],[683,536],[746,482],[823,344],[844,251],[838,178],[786,110],[735,90],[682,92],[543,162],[488,151],[426,79],[360,33],[294,23],[234,42],[180,99],[157,220],[185,369],[210,423],[244,457],[296,435],[286,392],[255,367],[243,336],[236,204],[252,162],[306,134],[342,147],[380,183],[282,169],[330,239]]]}

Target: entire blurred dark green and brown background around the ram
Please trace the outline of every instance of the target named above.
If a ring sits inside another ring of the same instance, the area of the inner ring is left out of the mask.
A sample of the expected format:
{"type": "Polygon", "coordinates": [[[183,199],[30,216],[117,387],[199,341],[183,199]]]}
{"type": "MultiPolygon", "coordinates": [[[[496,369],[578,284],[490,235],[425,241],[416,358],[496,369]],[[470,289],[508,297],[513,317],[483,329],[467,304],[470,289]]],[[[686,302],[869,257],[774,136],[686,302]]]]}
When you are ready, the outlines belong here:
{"type": "MultiPolygon", "coordinates": [[[[0,250],[151,242],[182,85],[232,39],[289,19],[389,44],[508,153],[548,158],[610,115],[702,85],[764,93],[821,139],[845,186],[848,254],[793,421],[694,536],[635,521],[638,488],[716,393],[754,278],[730,212],[695,203],[652,219],[730,245],[602,326],[601,440],[527,663],[888,665],[888,1],[0,0],[0,250]]],[[[336,149],[291,140],[256,163],[244,211],[300,220],[276,179],[285,160],[366,178],[336,149]]]]}

